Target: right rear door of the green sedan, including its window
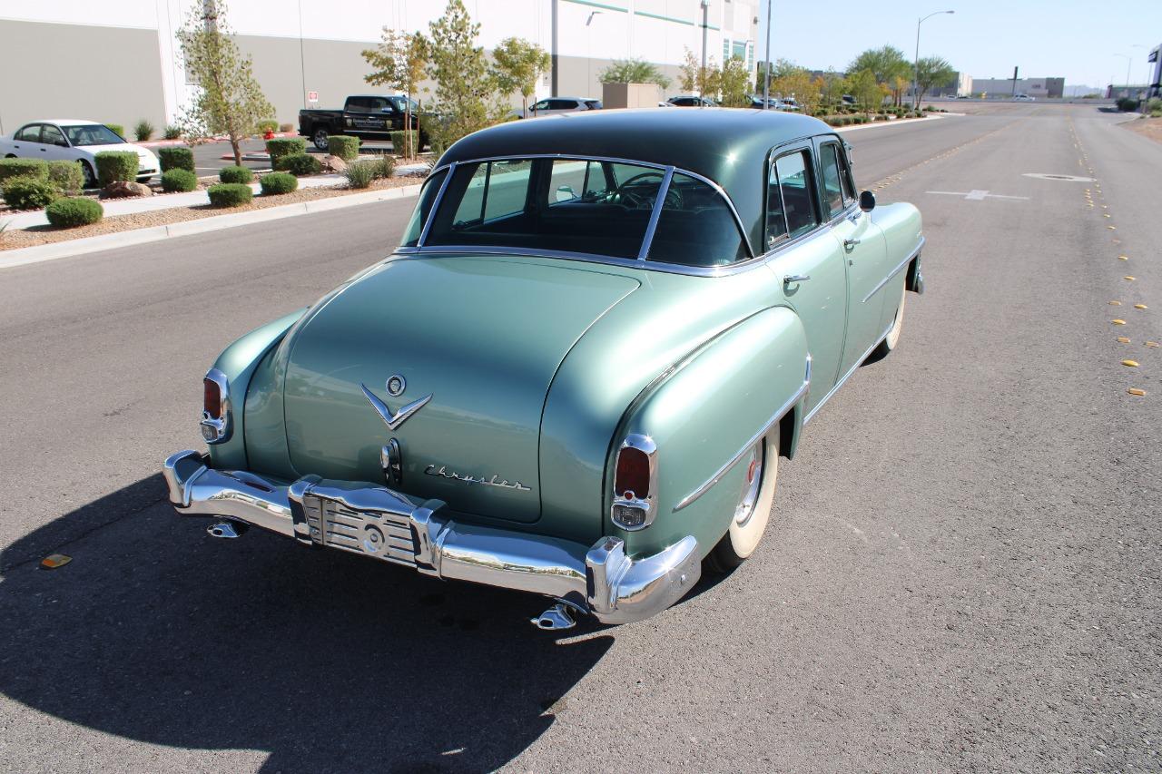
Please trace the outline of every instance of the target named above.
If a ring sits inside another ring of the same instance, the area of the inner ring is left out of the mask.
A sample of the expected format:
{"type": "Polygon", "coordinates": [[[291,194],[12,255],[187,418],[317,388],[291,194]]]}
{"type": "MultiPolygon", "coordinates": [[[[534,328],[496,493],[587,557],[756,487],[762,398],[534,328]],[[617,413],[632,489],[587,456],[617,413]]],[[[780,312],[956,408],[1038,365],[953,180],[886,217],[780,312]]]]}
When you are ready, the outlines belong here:
{"type": "Polygon", "coordinates": [[[835,384],[847,318],[842,250],[825,228],[811,142],[783,146],[767,172],[767,267],[803,321],[811,353],[810,413],[835,384]]]}

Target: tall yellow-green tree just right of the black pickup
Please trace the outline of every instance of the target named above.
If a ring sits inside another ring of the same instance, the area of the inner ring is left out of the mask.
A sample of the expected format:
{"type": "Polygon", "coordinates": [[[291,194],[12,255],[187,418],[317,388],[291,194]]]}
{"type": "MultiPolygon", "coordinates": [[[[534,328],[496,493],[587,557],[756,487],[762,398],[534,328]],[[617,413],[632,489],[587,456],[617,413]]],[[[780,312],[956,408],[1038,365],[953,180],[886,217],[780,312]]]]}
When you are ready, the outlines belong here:
{"type": "Polygon", "coordinates": [[[462,0],[449,0],[444,15],[428,27],[428,77],[436,81],[439,120],[429,129],[433,149],[502,120],[507,108],[496,99],[496,83],[485,49],[476,45],[480,24],[462,0]]]}

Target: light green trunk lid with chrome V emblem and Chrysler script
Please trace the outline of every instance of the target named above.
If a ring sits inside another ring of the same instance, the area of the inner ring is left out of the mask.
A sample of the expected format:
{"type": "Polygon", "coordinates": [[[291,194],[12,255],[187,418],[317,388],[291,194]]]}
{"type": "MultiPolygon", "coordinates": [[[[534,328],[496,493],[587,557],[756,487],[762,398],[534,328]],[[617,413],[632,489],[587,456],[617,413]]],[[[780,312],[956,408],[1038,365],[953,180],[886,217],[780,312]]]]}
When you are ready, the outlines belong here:
{"type": "Polygon", "coordinates": [[[380,449],[396,438],[403,492],[536,521],[550,384],[586,329],[637,287],[596,266],[526,258],[401,259],[370,271],[294,334],[284,382],[292,464],[299,474],[382,481],[380,449]],[[387,388],[395,375],[406,382],[399,395],[387,388]],[[364,387],[392,414],[431,399],[390,430],[364,387]]]}

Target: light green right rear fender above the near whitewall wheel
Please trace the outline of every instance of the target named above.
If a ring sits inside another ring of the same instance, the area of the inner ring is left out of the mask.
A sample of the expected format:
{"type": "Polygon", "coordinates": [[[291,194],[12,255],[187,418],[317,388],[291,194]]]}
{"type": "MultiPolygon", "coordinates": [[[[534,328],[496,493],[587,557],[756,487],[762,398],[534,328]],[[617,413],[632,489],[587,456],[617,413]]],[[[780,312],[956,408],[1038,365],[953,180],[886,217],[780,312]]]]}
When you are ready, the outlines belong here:
{"type": "Polygon", "coordinates": [[[607,522],[627,552],[655,553],[693,535],[705,556],[725,533],[741,490],[744,466],[733,463],[756,436],[772,432],[784,454],[794,453],[809,378],[803,323],[776,307],[723,331],[639,397],[612,439],[605,473],[609,519],[622,439],[640,433],[657,444],[653,523],[630,532],[607,522]]]}

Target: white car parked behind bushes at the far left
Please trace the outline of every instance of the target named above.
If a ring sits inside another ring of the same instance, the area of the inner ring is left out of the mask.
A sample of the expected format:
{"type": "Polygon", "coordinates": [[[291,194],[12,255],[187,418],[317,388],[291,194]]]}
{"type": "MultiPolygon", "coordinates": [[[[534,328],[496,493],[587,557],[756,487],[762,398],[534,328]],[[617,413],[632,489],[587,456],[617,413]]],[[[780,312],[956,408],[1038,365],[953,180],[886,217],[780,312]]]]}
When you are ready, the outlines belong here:
{"type": "Polygon", "coordinates": [[[96,185],[96,155],[101,151],[137,153],[137,181],[145,182],[158,173],[157,156],[141,145],[125,142],[103,123],[95,121],[30,121],[7,137],[0,137],[0,157],[43,158],[80,162],[85,187],[96,185]]]}

